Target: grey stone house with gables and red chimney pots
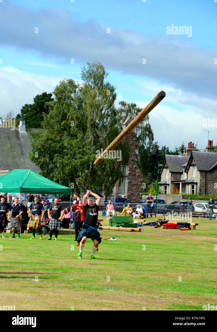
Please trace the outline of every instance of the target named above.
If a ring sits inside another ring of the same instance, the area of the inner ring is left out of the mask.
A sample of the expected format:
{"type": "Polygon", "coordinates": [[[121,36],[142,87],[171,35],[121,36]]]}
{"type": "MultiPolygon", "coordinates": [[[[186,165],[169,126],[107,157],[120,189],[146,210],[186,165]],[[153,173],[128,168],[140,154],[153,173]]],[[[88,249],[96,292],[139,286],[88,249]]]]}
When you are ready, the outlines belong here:
{"type": "Polygon", "coordinates": [[[189,142],[182,155],[165,155],[160,169],[160,188],[164,194],[212,194],[217,191],[217,153],[213,141],[206,152],[194,150],[189,142]],[[215,187],[216,186],[216,187],[215,187]]]}

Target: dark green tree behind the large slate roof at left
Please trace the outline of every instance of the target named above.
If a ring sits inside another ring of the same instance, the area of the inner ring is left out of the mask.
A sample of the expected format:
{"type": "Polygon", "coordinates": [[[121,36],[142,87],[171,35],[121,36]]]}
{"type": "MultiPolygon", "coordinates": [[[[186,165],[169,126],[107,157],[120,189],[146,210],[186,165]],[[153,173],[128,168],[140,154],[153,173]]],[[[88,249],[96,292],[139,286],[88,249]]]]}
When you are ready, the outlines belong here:
{"type": "Polygon", "coordinates": [[[49,113],[48,102],[53,101],[52,93],[43,92],[34,98],[33,104],[25,104],[21,113],[16,116],[17,120],[24,120],[27,128],[43,128],[44,115],[49,113]]]}

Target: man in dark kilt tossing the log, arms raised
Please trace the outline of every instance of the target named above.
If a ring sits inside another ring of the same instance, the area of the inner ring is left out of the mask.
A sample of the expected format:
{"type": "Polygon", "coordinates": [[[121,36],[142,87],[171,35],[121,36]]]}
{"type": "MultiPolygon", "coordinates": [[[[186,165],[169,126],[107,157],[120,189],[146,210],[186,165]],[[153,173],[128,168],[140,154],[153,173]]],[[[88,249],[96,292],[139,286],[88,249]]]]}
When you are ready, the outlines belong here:
{"type": "Polygon", "coordinates": [[[98,220],[98,210],[100,206],[101,198],[100,196],[87,190],[87,193],[83,196],[83,209],[84,209],[84,224],[80,231],[77,242],[80,243],[78,258],[82,258],[82,251],[86,239],[90,238],[93,241],[92,255],[90,258],[96,259],[95,253],[98,249],[98,245],[101,242],[100,234],[96,228],[96,223],[98,220]],[[91,195],[96,198],[96,203],[93,204],[91,199],[87,200],[87,196],[91,195]]]}

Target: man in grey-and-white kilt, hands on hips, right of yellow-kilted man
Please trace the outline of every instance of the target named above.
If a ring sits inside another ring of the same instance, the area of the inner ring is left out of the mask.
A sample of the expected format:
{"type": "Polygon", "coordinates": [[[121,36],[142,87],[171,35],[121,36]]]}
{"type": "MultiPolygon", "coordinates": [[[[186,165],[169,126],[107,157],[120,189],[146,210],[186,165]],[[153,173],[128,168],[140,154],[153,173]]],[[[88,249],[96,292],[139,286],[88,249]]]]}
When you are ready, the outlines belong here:
{"type": "Polygon", "coordinates": [[[52,204],[48,209],[48,218],[50,219],[49,221],[50,237],[47,240],[52,239],[52,234],[54,233],[55,230],[55,241],[57,241],[57,236],[60,229],[60,222],[64,213],[65,210],[62,207],[62,205],[59,203],[59,199],[56,197],[54,199],[54,204],[52,204]]]}

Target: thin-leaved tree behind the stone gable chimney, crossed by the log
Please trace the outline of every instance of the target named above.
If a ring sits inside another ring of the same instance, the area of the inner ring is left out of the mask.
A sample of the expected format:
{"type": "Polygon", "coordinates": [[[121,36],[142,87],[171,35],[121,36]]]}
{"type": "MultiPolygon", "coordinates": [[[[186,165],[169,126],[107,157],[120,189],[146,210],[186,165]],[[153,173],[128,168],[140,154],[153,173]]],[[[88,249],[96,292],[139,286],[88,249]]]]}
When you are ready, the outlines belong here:
{"type": "MultiPolygon", "coordinates": [[[[123,123],[128,116],[134,119],[142,111],[142,108],[137,107],[135,103],[127,103],[125,101],[120,101],[119,105],[120,107],[117,109],[117,123],[119,124],[119,129],[123,130],[123,123]]],[[[142,174],[146,176],[148,171],[148,158],[154,140],[154,134],[148,115],[136,126],[135,133],[136,163],[142,174]]]]}

